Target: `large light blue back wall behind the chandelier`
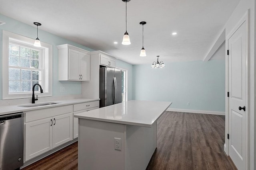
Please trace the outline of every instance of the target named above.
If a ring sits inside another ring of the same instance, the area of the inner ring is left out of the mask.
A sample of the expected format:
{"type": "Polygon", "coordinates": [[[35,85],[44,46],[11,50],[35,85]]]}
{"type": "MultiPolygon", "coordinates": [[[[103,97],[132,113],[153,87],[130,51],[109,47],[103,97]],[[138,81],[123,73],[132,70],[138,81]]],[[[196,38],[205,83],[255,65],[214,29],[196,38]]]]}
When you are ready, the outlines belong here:
{"type": "Polygon", "coordinates": [[[134,100],[170,101],[170,108],[225,111],[225,61],[133,66],[134,100]],[[187,103],[190,102],[190,105],[187,103]]]}

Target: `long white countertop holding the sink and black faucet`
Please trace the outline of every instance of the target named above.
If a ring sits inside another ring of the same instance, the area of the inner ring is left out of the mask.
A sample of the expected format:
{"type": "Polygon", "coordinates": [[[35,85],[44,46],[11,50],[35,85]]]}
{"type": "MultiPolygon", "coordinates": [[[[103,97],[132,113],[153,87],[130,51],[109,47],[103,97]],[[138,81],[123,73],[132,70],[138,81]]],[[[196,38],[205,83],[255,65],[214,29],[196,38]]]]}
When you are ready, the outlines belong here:
{"type": "MultiPolygon", "coordinates": [[[[36,106],[36,107],[20,107],[22,105],[29,105],[29,104],[20,104],[20,105],[12,105],[12,106],[0,106],[0,115],[5,115],[9,113],[16,113],[21,111],[29,111],[29,110],[36,110],[36,109],[44,109],[49,107],[58,107],[58,106],[64,106],[64,105],[70,105],[70,104],[78,104],[83,102],[92,102],[100,99],[68,99],[68,100],[49,100],[48,102],[42,102],[42,103],[49,103],[49,102],[56,102],[58,104],[53,105],[46,105],[46,106],[36,106]]],[[[40,104],[40,103],[36,103],[40,104]]]]}

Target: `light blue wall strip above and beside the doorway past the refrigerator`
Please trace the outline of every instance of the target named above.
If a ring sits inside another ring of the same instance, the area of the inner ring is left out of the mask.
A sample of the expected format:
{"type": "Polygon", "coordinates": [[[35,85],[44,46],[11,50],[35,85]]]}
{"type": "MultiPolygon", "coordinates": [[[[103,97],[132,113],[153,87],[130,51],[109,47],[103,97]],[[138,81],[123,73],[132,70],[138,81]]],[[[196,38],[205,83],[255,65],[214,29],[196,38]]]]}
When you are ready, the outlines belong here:
{"type": "Polygon", "coordinates": [[[124,61],[121,60],[116,60],[116,67],[118,68],[123,68],[124,70],[127,70],[127,83],[128,83],[128,87],[127,87],[127,93],[128,93],[128,100],[132,100],[132,89],[133,89],[133,85],[132,85],[132,64],[126,63],[124,61]]]}

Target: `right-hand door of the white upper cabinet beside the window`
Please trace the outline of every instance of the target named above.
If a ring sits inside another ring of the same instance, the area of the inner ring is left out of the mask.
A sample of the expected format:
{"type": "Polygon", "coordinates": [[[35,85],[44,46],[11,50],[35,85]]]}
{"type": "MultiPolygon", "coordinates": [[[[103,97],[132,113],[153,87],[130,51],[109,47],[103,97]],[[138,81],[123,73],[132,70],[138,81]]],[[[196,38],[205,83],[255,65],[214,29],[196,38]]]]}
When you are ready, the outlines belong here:
{"type": "Polygon", "coordinates": [[[90,81],[90,55],[80,53],[80,74],[82,81],[90,81]]]}

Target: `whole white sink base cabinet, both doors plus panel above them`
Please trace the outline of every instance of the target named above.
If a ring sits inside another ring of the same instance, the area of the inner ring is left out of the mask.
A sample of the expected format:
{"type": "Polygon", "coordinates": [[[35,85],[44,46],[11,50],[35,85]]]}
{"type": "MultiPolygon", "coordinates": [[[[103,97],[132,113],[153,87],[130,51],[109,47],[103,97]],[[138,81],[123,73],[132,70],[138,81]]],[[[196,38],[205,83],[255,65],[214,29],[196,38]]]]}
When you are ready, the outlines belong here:
{"type": "Polygon", "coordinates": [[[73,106],[25,113],[25,161],[72,140],[73,106]]]}

